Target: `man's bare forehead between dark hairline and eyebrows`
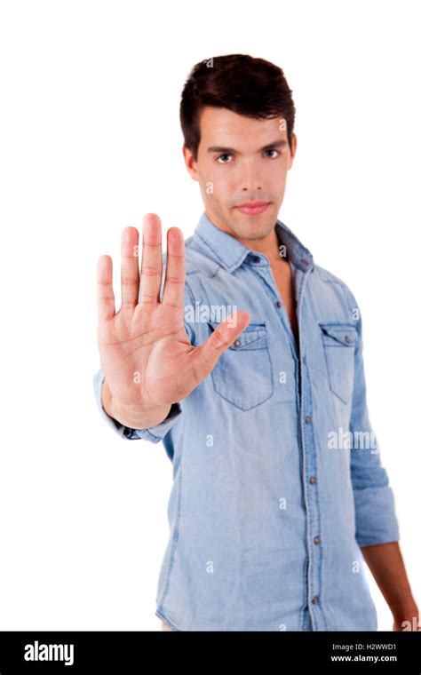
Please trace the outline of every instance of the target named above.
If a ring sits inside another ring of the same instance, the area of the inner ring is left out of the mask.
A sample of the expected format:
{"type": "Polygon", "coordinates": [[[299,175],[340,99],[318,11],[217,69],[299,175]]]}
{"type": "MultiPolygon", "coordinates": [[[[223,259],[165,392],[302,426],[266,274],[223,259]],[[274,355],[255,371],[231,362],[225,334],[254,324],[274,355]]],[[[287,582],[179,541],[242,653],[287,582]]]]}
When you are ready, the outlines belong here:
{"type": "Polygon", "coordinates": [[[200,115],[201,144],[236,147],[263,146],[266,140],[287,139],[282,116],[270,120],[238,115],[225,107],[203,107],[200,115]]]}

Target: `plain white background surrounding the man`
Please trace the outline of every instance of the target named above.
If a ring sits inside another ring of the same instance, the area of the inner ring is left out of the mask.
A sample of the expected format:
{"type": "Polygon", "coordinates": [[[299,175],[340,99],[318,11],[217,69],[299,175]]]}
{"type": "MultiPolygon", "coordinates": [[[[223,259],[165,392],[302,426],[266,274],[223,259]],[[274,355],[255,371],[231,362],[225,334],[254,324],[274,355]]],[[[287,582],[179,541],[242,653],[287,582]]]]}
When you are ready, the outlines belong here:
{"type": "Polygon", "coordinates": [[[96,264],[112,255],[117,280],[121,230],[150,211],[193,234],[179,97],[197,61],[234,52],[274,61],[293,90],[279,218],[361,306],[370,419],[421,602],[416,8],[1,4],[1,630],[160,628],[171,463],[96,409],[96,264]]]}

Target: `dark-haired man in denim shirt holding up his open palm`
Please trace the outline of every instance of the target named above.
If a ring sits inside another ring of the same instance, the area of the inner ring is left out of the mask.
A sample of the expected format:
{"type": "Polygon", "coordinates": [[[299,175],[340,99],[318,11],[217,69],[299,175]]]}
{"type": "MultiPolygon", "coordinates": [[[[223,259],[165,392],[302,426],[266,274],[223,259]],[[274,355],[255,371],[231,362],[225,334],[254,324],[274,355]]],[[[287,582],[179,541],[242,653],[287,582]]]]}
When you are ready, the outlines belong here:
{"type": "Polygon", "coordinates": [[[139,274],[139,233],[123,230],[117,314],[99,258],[99,409],[173,463],[156,595],[167,629],[375,631],[363,559],[393,629],[418,616],[369,424],[359,306],[277,220],[291,93],[266,60],[196,64],[180,107],[205,208],[195,234],[185,247],[171,227],[163,257],[148,214],[139,274]]]}

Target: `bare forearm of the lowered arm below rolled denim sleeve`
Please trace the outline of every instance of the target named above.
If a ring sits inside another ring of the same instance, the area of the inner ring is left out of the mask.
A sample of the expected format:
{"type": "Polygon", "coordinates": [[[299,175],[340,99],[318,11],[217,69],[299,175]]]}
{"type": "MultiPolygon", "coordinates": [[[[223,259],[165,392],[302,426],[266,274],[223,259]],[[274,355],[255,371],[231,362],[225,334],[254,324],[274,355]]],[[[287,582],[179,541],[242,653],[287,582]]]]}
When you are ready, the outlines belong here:
{"type": "Polygon", "coordinates": [[[403,621],[411,621],[414,617],[418,620],[417,603],[412,595],[399,543],[361,546],[361,552],[395,623],[401,626],[403,621]]]}

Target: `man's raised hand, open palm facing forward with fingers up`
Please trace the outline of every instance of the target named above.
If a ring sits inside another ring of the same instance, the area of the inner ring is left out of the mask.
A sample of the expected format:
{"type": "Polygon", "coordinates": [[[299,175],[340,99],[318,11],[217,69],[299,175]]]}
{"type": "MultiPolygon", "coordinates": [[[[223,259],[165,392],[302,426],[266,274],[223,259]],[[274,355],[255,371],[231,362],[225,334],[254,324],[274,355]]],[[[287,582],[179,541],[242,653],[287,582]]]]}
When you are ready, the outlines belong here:
{"type": "Polygon", "coordinates": [[[122,234],[122,305],[115,312],[113,262],[98,262],[98,344],[105,381],[103,403],[122,424],[144,428],[167,416],[209,375],[219,356],[250,322],[237,312],[235,321],[221,322],[202,345],[193,346],[184,328],[185,249],[178,227],[167,233],[163,298],[161,221],[154,213],[143,220],[139,274],[139,232],[122,234]],[[139,292],[140,291],[140,292],[139,292]]]}

